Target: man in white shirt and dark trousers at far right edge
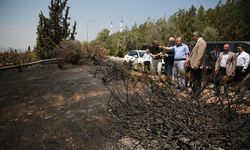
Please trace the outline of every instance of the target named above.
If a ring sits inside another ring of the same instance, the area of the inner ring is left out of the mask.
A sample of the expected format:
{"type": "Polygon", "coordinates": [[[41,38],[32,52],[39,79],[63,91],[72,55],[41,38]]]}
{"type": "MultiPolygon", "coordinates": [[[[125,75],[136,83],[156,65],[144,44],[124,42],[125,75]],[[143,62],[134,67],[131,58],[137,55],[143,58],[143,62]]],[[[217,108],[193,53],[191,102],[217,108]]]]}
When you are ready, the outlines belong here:
{"type": "Polygon", "coordinates": [[[237,47],[238,53],[236,54],[236,69],[234,81],[242,81],[247,75],[247,68],[249,66],[249,54],[245,52],[242,44],[237,47]]]}

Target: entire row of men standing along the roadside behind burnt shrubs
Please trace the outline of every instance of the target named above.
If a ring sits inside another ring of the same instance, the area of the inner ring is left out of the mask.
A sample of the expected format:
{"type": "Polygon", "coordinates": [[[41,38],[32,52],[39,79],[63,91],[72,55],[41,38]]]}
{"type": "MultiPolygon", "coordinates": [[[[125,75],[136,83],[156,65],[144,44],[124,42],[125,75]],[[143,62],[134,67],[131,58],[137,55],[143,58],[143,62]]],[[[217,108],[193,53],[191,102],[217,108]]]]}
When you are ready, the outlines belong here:
{"type": "MultiPolygon", "coordinates": [[[[196,44],[188,45],[182,43],[180,37],[169,38],[168,46],[160,46],[159,42],[154,40],[153,46],[147,50],[144,55],[145,68],[150,69],[154,74],[161,75],[162,59],[165,62],[165,73],[176,81],[176,87],[184,87],[188,78],[192,83],[192,97],[198,97],[201,92],[201,74],[202,70],[207,68],[205,63],[206,42],[203,40],[199,32],[193,33],[193,39],[196,44]],[[151,61],[150,61],[151,58],[151,61]],[[149,63],[152,62],[152,67],[149,63]]],[[[209,53],[211,60],[214,61],[212,66],[214,72],[215,93],[220,95],[221,81],[225,81],[223,85],[224,94],[227,95],[229,79],[239,82],[244,79],[247,74],[249,65],[249,54],[245,52],[243,45],[238,45],[238,53],[230,51],[230,45],[225,44],[223,52],[218,48],[209,53]]]]}

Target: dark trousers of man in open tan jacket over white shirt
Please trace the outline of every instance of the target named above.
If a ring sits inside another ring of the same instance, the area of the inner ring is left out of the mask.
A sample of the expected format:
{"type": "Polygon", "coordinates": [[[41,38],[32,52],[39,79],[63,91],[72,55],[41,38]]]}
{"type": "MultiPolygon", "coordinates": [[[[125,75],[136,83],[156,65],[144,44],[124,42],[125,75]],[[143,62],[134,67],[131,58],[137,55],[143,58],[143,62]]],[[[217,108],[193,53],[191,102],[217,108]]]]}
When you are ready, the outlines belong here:
{"type": "Polygon", "coordinates": [[[224,85],[224,96],[227,96],[229,82],[230,78],[227,77],[226,68],[220,67],[219,72],[215,76],[215,95],[220,96],[220,89],[224,85]]]}

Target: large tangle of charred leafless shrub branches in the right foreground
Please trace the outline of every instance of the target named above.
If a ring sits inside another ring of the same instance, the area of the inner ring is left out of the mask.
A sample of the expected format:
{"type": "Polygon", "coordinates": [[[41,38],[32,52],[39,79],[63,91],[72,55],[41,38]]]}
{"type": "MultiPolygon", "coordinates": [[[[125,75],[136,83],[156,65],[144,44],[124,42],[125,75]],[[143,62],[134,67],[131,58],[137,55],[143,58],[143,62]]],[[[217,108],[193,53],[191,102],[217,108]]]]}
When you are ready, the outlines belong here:
{"type": "Polygon", "coordinates": [[[123,63],[107,60],[92,72],[110,91],[113,118],[104,130],[118,140],[116,149],[249,149],[250,77],[240,83],[239,95],[230,87],[227,97],[217,97],[206,86],[192,98],[171,80],[156,80],[123,63]]]}

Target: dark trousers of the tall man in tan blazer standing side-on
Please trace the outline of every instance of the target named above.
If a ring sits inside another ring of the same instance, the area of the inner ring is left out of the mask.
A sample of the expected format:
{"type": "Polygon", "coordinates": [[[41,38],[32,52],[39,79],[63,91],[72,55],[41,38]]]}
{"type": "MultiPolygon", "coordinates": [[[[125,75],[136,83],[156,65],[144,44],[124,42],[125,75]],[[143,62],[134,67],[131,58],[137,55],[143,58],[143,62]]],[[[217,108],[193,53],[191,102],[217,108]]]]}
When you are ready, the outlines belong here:
{"type": "Polygon", "coordinates": [[[191,81],[192,81],[192,97],[197,98],[201,92],[201,72],[202,69],[190,70],[191,81]]]}

